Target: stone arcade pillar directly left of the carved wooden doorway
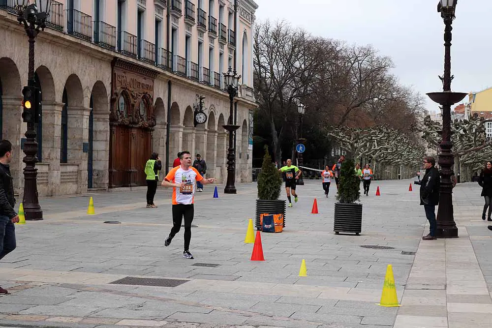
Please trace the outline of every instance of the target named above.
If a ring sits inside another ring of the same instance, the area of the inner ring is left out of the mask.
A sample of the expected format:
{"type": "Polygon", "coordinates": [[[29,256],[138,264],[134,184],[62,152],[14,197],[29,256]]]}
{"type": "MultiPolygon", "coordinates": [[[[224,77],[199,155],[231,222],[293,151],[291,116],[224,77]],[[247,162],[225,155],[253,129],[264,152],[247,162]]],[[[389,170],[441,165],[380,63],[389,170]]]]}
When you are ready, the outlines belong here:
{"type": "Polygon", "coordinates": [[[94,111],[92,116],[92,187],[108,189],[109,111],[94,111]]]}

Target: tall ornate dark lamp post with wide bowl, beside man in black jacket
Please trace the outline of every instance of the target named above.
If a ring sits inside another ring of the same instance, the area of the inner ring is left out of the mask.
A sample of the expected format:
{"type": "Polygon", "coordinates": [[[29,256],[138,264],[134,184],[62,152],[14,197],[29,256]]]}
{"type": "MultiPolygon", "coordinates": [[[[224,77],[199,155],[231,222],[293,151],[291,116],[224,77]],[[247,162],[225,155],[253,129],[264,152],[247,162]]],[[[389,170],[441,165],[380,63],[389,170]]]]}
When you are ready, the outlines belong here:
{"type": "Polygon", "coordinates": [[[458,237],[458,228],[453,215],[452,181],[453,165],[455,163],[453,143],[451,142],[451,105],[461,101],[466,93],[451,92],[451,30],[455,19],[456,3],[458,0],[440,0],[437,4],[437,12],[441,13],[444,20],[444,76],[439,77],[443,84],[443,92],[431,92],[427,95],[442,107],[442,141],[439,145],[440,154],[438,164],[440,167],[441,184],[439,188],[439,208],[437,210],[436,236],[441,238],[458,237]]]}

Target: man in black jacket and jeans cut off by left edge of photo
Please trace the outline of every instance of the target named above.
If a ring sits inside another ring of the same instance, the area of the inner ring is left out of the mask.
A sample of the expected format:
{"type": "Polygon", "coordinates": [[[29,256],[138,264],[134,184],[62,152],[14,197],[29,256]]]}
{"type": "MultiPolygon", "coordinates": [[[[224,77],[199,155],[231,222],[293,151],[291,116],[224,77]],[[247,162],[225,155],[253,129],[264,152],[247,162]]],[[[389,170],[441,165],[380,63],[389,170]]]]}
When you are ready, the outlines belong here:
{"type": "MultiPolygon", "coordinates": [[[[0,140],[0,260],[15,249],[15,227],[19,216],[14,210],[15,198],[9,163],[12,160],[12,144],[0,140]]],[[[0,295],[7,291],[0,287],[0,295]]]]}

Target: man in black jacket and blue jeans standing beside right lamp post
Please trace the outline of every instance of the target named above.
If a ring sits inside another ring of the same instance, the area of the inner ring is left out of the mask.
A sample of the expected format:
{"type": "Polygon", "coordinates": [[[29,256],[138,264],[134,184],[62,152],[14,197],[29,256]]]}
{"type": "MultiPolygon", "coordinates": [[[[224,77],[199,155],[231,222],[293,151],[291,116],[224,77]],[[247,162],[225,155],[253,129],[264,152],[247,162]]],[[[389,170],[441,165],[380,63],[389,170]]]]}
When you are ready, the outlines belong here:
{"type": "Polygon", "coordinates": [[[431,225],[429,235],[424,240],[434,240],[436,237],[437,222],[435,220],[435,206],[439,205],[439,171],[435,168],[434,157],[425,157],[423,168],[426,170],[420,182],[420,205],[424,206],[427,219],[431,225]]]}

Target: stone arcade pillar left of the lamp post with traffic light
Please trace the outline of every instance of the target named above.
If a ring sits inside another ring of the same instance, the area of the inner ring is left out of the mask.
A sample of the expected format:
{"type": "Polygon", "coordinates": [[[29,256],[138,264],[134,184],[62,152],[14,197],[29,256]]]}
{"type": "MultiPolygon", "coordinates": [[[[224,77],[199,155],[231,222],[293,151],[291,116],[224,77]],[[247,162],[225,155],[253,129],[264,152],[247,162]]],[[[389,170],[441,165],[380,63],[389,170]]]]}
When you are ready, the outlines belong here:
{"type": "Polygon", "coordinates": [[[12,161],[10,174],[14,184],[14,193],[22,193],[24,189],[24,152],[21,149],[21,140],[25,138],[27,124],[22,121],[22,97],[2,96],[2,138],[12,143],[12,161]]]}

